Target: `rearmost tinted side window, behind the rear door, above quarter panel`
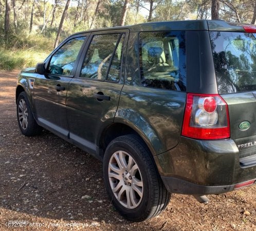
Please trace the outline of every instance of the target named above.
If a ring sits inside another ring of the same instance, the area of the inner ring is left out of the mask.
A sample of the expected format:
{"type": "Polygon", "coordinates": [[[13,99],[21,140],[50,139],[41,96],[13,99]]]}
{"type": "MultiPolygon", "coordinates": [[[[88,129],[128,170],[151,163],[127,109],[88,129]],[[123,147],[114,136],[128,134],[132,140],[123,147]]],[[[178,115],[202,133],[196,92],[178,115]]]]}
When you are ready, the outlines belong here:
{"type": "Polygon", "coordinates": [[[141,32],[141,84],[186,91],[185,32],[141,32]]]}

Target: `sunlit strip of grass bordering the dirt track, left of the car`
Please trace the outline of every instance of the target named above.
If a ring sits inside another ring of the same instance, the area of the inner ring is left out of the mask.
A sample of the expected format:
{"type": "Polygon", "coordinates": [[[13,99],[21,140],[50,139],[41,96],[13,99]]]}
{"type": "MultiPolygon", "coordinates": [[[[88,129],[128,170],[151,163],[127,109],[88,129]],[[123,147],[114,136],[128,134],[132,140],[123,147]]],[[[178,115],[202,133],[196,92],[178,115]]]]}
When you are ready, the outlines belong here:
{"type": "Polygon", "coordinates": [[[49,53],[45,51],[0,49],[0,69],[13,70],[33,67],[43,62],[49,53]]]}

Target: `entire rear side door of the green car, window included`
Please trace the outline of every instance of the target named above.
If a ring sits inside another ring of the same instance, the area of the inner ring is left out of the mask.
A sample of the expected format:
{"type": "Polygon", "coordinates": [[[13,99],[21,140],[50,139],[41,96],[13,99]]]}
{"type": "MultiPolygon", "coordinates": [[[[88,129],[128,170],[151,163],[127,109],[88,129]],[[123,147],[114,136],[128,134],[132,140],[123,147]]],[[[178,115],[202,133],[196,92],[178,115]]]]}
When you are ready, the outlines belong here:
{"type": "Polygon", "coordinates": [[[128,30],[94,32],[67,91],[70,140],[96,153],[96,137],[111,124],[123,86],[128,30]]]}

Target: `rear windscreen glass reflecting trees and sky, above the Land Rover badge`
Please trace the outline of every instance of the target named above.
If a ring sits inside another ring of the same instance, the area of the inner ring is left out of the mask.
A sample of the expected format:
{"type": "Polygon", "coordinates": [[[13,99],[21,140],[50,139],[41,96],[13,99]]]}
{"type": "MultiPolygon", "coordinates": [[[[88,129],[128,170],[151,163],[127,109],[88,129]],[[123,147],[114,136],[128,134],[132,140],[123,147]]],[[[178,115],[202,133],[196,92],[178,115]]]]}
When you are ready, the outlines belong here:
{"type": "Polygon", "coordinates": [[[210,31],[218,93],[256,90],[256,33],[210,31]]]}

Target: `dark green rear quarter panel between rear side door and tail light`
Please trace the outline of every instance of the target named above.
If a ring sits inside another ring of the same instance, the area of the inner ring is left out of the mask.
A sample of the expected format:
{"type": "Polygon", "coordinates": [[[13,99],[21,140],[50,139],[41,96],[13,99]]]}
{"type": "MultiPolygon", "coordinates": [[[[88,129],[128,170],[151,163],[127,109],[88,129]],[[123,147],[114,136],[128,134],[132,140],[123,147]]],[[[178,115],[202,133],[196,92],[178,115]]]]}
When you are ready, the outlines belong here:
{"type": "Polygon", "coordinates": [[[133,127],[157,155],[179,142],[186,92],[124,86],[115,122],[133,127]]]}

